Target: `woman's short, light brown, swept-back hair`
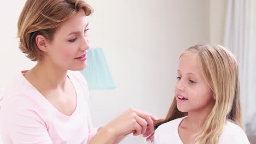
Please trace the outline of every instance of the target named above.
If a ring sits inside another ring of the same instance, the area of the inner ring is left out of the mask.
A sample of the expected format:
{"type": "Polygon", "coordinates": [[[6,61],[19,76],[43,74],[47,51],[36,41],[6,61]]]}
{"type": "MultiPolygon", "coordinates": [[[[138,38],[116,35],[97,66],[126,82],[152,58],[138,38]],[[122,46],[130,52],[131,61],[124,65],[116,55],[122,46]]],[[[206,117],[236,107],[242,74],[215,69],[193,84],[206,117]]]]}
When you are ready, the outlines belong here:
{"type": "Polygon", "coordinates": [[[53,40],[54,32],[62,21],[84,10],[89,16],[93,10],[84,0],[27,0],[18,21],[20,50],[31,61],[43,59],[43,51],[36,44],[37,35],[53,40]]]}

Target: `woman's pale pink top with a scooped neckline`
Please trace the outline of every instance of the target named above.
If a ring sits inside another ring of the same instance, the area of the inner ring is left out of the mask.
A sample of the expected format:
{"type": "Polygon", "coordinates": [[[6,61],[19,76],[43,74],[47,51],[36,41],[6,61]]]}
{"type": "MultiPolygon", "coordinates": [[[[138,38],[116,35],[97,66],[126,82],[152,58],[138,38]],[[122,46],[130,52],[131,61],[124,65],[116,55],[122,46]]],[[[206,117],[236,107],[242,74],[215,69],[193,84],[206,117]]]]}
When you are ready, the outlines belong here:
{"type": "Polygon", "coordinates": [[[24,77],[22,71],[1,101],[0,135],[3,143],[89,143],[92,129],[89,90],[79,71],[68,71],[77,94],[71,116],[63,115],[24,77]]]}

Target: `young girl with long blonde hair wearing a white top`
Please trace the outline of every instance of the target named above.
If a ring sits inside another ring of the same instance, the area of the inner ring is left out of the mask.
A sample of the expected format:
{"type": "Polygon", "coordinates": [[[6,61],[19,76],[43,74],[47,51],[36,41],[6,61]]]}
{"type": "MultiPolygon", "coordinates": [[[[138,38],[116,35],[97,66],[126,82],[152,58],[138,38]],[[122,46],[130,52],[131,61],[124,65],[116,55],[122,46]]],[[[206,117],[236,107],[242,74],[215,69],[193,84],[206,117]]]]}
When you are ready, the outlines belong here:
{"type": "Polygon", "coordinates": [[[220,45],[195,45],[179,57],[175,97],[155,143],[249,143],[242,122],[237,62],[220,45]]]}

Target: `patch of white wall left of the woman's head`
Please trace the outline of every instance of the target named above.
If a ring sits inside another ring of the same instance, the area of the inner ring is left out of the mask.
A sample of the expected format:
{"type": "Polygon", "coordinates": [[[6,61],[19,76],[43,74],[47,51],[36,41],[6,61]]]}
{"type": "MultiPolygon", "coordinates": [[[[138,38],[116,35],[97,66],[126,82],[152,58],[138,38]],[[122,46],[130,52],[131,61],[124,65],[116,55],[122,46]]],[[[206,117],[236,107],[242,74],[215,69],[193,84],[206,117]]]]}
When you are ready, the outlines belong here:
{"type": "Polygon", "coordinates": [[[1,1],[0,9],[0,87],[6,86],[13,76],[21,70],[30,69],[35,63],[30,62],[18,47],[17,22],[25,0],[1,1]]]}

